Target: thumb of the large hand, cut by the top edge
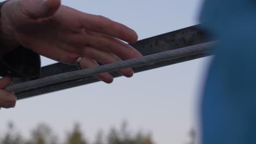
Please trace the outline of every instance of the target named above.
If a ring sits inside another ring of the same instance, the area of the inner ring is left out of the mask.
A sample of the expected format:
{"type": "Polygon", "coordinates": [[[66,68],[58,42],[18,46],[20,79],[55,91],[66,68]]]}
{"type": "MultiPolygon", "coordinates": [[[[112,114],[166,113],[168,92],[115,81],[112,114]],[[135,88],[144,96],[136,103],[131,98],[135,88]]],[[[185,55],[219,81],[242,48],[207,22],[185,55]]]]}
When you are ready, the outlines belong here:
{"type": "Polygon", "coordinates": [[[60,8],[61,0],[33,0],[22,1],[28,12],[28,16],[33,19],[40,19],[52,16],[60,8]]]}

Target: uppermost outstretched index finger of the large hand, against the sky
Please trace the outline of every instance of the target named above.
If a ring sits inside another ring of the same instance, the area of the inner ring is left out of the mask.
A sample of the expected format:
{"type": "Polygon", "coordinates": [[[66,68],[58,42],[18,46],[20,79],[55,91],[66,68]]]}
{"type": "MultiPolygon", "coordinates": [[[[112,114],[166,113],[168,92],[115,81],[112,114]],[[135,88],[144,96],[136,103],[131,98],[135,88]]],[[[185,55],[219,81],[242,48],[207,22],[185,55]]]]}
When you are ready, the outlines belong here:
{"type": "Polygon", "coordinates": [[[128,43],[136,43],[138,39],[137,33],[131,28],[106,17],[80,13],[79,18],[82,27],[92,32],[111,35],[112,37],[124,40],[128,43]]]}

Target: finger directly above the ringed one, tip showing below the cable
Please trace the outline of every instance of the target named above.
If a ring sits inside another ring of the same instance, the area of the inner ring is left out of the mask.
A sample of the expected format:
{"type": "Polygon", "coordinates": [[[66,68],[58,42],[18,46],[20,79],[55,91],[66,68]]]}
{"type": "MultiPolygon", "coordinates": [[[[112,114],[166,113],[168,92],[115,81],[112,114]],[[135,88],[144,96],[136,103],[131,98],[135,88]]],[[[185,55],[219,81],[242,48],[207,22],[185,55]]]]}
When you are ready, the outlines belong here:
{"type": "MultiPolygon", "coordinates": [[[[86,46],[83,53],[89,58],[102,64],[122,61],[119,57],[113,55],[112,53],[100,51],[90,46],[86,46]]],[[[131,77],[133,75],[133,70],[131,68],[121,69],[118,70],[118,73],[126,77],[131,77]]]]}

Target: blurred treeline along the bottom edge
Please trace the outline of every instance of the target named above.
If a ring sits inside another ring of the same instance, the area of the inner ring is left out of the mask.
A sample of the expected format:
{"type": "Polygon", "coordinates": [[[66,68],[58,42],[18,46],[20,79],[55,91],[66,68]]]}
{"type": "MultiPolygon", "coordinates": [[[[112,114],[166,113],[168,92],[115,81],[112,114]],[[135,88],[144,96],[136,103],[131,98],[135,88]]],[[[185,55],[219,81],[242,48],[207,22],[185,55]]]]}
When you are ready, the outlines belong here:
{"type": "Polygon", "coordinates": [[[59,140],[47,124],[38,124],[26,139],[10,122],[7,132],[3,134],[1,131],[0,144],[154,144],[154,142],[149,134],[143,134],[141,131],[135,134],[129,132],[125,122],[119,129],[110,129],[106,135],[99,131],[93,142],[86,139],[78,123],[66,133],[65,140],[59,140]]]}

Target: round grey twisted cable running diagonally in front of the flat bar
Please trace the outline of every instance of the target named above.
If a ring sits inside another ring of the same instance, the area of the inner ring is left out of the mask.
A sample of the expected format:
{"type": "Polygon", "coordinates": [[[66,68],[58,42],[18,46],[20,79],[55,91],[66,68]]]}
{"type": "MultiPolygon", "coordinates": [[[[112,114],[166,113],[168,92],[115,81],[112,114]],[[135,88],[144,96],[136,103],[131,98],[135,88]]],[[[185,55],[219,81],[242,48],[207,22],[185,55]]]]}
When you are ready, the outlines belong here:
{"type": "Polygon", "coordinates": [[[148,65],[156,62],[168,61],[170,59],[179,58],[183,56],[189,56],[201,52],[210,52],[211,46],[214,42],[208,42],[188,47],[183,47],[181,49],[170,50],[166,52],[155,53],[152,55],[129,59],[126,61],[121,61],[117,63],[110,63],[105,65],[100,65],[94,68],[88,68],[83,70],[72,71],[65,74],[59,74],[49,77],[44,77],[38,80],[27,81],[23,83],[18,83],[6,88],[9,92],[22,93],[30,91],[31,89],[38,89],[42,87],[47,87],[49,85],[56,85],[56,83],[67,82],[71,80],[84,79],[88,76],[94,76],[101,73],[110,73],[112,71],[139,67],[142,65],[148,65]]]}

